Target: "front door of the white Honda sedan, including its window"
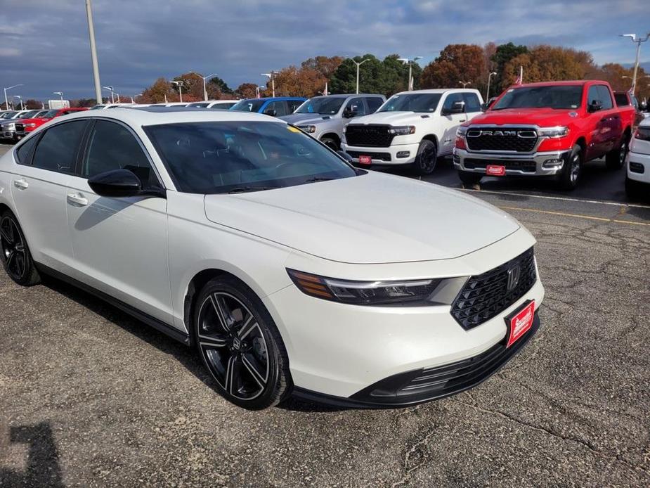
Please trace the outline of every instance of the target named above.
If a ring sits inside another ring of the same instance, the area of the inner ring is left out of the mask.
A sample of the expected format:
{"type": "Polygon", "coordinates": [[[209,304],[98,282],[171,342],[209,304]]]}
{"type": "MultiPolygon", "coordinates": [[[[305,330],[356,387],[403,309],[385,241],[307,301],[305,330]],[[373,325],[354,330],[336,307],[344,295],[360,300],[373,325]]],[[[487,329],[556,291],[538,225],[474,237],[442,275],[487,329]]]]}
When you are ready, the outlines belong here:
{"type": "Polygon", "coordinates": [[[142,188],[162,188],[148,153],[125,125],[98,119],[89,127],[66,207],[77,279],[150,316],[173,323],[167,262],[167,200],[97,195],[88,179],[129,169],[142,188]]]}

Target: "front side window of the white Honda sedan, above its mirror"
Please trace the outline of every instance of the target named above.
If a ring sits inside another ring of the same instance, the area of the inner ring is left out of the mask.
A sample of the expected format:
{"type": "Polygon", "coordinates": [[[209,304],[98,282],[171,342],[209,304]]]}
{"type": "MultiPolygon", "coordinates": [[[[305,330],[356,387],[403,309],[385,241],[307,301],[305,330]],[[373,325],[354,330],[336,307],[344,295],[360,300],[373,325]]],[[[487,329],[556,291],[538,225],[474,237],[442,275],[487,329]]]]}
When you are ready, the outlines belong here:
{"type": "Polygon", "coordinates": [[[82,176],[91,178],[113,169],[129,169],[138,176],[145,190],[160,186],[135,136],[120,124],[98,120],[88,140],[82,176]]]}

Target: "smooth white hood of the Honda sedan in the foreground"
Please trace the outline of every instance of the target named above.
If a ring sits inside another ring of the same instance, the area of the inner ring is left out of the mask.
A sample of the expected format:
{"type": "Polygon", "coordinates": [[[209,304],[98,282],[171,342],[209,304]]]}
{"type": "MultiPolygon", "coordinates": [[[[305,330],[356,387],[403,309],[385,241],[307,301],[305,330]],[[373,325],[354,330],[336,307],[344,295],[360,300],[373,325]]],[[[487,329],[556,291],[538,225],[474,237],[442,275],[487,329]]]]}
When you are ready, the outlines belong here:
{"type": "Polygon", "coordinates": [[[207,219],[337,262],[429,261],[465,255],[519,229],[460,191],[368,172],[237,195],[206,195],[207,219]]]}

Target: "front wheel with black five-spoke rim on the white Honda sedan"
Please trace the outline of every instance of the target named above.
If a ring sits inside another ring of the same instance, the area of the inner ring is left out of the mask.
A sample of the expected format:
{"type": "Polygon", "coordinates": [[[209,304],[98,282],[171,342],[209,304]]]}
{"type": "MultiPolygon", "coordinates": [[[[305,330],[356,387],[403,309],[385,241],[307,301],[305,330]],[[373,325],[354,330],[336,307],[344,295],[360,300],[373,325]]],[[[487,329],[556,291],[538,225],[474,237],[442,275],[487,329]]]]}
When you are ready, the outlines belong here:
{"type": "Polygon", "coordinates": [[[195,302],[194,333],[216,390],[249,410],[278,404],[291,377],[280,333],[259,297],[233,276],[204,286],[195,302]]]}

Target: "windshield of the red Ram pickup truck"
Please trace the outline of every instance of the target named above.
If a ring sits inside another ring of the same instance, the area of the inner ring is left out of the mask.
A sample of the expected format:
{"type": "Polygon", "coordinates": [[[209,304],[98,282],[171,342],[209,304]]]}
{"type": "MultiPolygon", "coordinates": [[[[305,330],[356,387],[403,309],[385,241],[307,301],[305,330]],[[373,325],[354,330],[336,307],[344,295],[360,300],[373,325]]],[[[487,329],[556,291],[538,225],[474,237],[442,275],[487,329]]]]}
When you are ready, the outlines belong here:
{"type": "Polygon", "coordinates": [[[582,85],[524,86],[509,89],[490,110],[506,108],[571,109],[580,107],[582,98],[582,85]]]}

